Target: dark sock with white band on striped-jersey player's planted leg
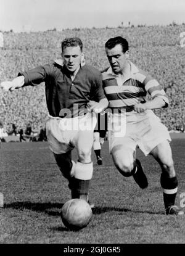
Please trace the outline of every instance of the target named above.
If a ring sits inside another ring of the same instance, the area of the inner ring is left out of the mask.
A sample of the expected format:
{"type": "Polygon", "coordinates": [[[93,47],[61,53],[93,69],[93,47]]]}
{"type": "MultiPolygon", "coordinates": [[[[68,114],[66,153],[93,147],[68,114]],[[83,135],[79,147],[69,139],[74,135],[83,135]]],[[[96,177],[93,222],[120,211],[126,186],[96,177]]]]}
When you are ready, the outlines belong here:
{"type": "Polygon", "coordinates": [[[163,189],[163,200],[165,209],[175,204],[176,192],[178,188],[178,180],[175,177],[169,178],[167,174],[162,173],[160,176],[160,184],[163,189]]]}

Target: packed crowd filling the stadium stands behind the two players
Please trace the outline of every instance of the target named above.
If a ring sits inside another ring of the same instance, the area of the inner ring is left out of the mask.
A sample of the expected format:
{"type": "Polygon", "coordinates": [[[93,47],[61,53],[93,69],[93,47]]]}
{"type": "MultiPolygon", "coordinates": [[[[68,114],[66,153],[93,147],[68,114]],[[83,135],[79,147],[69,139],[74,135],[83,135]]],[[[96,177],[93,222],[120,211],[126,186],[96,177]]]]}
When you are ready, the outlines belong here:
{"type": "MultiPolygon", "coordinates": [[[[155,110],[168,130],[184,131],[185,125],[185,47],[180,45],[180,33],[185,24],[131,28],[81,28],[62,31],[31,33],[4,33],[4,46],[0,48],[0,80],[11,80],[20,71],[60,59],[60,41],[78,36],[84,44],[89,64],[99,70],[108,67],[104,44],[113,36],[123,36],[130,44],[131,61],[154,76],[165,89],[170,105],[165,110],[155,110]]],[[[4,132],[24,136],[28,123],[33,134],[41,133],[45,140],[43,124],[47,119],[44,84],[30,86],[13,92],[0,93],[0,118],[4,132]]],[[[39,136],[35,137],[36,139],[39,136]]],[[[41,138],[40,138],[41,139],[41,138]]]]}

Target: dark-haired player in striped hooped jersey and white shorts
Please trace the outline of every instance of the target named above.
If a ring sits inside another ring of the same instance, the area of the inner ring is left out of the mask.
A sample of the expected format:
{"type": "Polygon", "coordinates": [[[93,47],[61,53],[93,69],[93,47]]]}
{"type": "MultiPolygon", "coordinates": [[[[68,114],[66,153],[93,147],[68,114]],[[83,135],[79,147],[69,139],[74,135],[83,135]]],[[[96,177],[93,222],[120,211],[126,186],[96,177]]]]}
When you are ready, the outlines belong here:
{"type": "Polygon", "coordinates": [[[133,175],[140,188],[148,185],[138,146],[152,155],[162,168],[161,186],[167,214],[183,215],[175,205],[178,180],[167,128],[152,109],[168,106],[168,98],[158,81],[130,60],[128,41],[121,36],[105,43],[110,67],[102,72],[104,92],[109,100],[109,147],[113,162],[123,176],[133,175]],[[149,96],[149,97],[147,97],[149,96]]]}

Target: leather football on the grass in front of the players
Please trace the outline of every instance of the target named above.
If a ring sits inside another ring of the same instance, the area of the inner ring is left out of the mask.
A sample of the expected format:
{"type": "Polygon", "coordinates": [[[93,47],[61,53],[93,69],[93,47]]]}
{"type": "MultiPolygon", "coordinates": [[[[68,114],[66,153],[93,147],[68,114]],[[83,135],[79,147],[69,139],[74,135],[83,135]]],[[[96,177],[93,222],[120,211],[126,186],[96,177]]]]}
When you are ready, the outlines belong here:
{"type": "Polygon", "coordinates": [[[91,207],[83,199],[71,199],[62,206],[62,222],[69,229],[78,230],[86,227],[91,217],[91,207]]]}

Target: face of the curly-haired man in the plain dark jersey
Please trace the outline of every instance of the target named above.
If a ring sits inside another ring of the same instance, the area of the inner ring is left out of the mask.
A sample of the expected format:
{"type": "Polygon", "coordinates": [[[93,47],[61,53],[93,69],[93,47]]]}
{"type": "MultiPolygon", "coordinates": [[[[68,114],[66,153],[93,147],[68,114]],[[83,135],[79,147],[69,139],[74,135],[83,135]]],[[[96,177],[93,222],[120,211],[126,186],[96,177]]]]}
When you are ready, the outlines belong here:
{"type": "Polygon", "coordinates": [[[69,72],[74,73],[76,69],[80,67],[82,55],[83,53],[81,52],[80,46],[69,46],[64,48],[62,58],[64,60],[64,65],[69,72]]]}

